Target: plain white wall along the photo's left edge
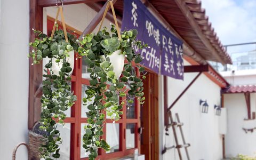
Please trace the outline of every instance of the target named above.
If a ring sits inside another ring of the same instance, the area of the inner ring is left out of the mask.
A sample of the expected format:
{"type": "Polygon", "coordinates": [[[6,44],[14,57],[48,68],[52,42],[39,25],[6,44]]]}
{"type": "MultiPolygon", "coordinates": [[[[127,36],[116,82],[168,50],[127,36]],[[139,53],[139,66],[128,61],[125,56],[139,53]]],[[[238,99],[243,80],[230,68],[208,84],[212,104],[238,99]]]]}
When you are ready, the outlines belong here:
{"type": "MultiPolygon", "coordinates": [[[[29,1],[1,0],[0,12],[0,159],[10,160],[28,139],[29,1]]],[[[25,147],[17,159],[27,159],[25,147]]]]}

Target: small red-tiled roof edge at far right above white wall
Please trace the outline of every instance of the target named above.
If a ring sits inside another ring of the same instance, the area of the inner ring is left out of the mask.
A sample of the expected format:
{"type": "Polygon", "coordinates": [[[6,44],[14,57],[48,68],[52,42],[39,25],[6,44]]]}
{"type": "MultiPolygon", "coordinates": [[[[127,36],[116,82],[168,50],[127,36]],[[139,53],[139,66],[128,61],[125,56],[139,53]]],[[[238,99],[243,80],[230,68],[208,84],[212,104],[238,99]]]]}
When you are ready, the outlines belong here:
{"type": "Polygon", "coordinates": [[[237,85],[230,86],[225,93],[245,93],[245,92],[256,92],[256,85],[237,85]]]}

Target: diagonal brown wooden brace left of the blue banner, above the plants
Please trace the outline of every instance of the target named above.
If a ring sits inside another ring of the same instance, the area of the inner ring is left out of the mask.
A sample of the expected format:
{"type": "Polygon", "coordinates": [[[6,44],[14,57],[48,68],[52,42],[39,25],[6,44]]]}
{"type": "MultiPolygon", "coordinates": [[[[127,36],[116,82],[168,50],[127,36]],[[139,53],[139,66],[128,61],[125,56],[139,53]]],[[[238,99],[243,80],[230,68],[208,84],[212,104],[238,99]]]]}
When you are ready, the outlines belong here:
{"type": "MultiPolygon", "coordinates": [[[[115,4],[116,1],[117,0],[113,0],[113,4],[115,4]]],[[[97,15],[93,18],[93,20],[89,23],[89,25],[84,29],[83,34],[79,38],[82,38],[83,35],[92,33],[92,31],[99,25],[107,4],[108,4],[108,1],[103,5],[101,10],[97,13],[97,15]]],[[[108,10],[110,10],[110,7],[108,8],[108,10]]]]}

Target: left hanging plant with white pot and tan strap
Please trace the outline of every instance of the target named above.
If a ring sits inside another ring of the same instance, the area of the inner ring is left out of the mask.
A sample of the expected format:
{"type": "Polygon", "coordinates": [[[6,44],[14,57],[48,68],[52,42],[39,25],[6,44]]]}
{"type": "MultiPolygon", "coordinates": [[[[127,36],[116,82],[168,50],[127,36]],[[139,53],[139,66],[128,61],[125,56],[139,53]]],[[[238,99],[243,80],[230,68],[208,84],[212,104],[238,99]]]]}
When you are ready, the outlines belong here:
{"type": "Polygon", "coordinates": [[[46,139],[39,151],[41,157],[50,160],[60,157],[59,143],[62,143],[62,139],[57,123],[63,124],[66,118],[64,111],[73,106],[76,101],[76,96],[71,92],[70,81],[74,68],[74,50],[78,45],[76,37],[66,31],[62,7],[58,7],[51,37],[37,30],[34,30],[34,33],[35,41],[29,43],[32,48],[28,55],[33,59],[31,65],[40,63],[43,58],[47,60],[44,66],[42,112],[39,120],[41,123],[39,129],[47,134],[44,135],[46,139]],[[59,12],[63,30],[58,29],[57,25],[59,12]],[[56,31],[55,28],[57,28],[56,31]]]}

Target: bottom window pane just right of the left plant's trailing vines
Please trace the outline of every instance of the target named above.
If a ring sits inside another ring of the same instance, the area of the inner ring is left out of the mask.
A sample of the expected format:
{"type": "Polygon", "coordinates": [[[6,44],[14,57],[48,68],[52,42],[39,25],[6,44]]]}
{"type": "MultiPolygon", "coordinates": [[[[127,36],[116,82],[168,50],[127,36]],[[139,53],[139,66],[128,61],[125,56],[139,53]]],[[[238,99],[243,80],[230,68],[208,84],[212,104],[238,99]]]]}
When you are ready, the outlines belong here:
{"type": "Polygon", "coordinates": [[[70,123],[66,123],[64,126],[62,124],[57,124],[57,130],[60,131],[60,137],[62,139],[62,144],[60,147],[60,159],[69,160],[70,156],[70,123]]]}

